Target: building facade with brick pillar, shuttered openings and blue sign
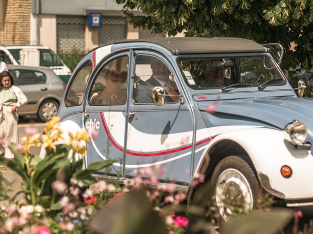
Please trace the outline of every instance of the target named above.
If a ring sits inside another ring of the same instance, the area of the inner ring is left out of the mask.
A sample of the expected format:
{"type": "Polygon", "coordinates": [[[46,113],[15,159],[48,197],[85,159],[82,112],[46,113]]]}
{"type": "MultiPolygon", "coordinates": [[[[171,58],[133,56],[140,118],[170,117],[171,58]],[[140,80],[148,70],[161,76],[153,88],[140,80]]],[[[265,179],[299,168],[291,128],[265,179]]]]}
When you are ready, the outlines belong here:
{"type": "Polygon", "coordinates": [[[116,40],[155,37],[148,30],[134,29],[121,10],[113,0],[0,0],[0,44],[86,53],[116,40]],[[90,27],[89,13],[102,15],[101,27],[90,27]]]}

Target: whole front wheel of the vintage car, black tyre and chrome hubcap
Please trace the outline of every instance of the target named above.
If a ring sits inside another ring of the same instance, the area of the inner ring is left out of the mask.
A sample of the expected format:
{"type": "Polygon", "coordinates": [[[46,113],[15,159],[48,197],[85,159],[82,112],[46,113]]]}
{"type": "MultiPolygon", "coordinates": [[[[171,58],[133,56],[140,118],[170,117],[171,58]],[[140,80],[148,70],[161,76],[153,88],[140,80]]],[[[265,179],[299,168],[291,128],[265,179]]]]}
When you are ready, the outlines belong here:
{"type": "Polygon", "coordinates": [[[260,184],[243,158],[228,156],[220,161],[213,171],[212,182],[216,206],[225,220],[256,208],[261,195],[260,184]]]}

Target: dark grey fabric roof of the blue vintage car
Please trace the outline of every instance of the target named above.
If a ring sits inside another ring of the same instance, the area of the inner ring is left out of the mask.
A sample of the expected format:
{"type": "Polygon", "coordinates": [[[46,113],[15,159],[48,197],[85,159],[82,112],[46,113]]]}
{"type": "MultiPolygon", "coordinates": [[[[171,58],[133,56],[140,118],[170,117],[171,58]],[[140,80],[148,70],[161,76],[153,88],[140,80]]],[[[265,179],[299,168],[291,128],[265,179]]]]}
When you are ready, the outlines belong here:
{"type": "MultiPolygon", "coordinates": [[[[261,44],[242,38],[148,38],[126,39],[117,43],[154,43],[169,50],[172,54],[206,54],[206,53],[246,53],[266,52],[268,49],[261,44]]],[[[135,45],[135,44],[134,44],[135,45]]]]}

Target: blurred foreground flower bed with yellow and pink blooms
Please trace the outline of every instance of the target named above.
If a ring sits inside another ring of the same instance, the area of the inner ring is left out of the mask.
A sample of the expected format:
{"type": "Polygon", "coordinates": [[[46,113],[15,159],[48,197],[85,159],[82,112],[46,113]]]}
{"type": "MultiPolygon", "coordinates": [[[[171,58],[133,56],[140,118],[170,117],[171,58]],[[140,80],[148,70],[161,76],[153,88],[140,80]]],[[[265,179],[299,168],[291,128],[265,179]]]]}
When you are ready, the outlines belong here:
{"type": "MultiPolygon", "coordinates": [[[[0,157],[22,178],[22,190],[9,197],[10,183],[0,174],[0,201],[5,204],[0,206],[0,234],[183,234],[199,233],[213,225],[227,233],[227,228],[233,230],[238,226],[233,222],[222,225],[223,220],[210,199],[212,186],[204,183],[204,174],[196,174],[191,181],[189,189],[197,191],[192,193],[187,206],[184,192],[175,191],[171,181],[160,183],[158,178],[166,172],[160,165],[137,169],[134,178],[124,181],[92,177],[92,173],[101,169],[109,170],[115,161],[92,163],[83,170],[83,157],[76,156],[85,155],[84,142],[89,141],[86,129],[70,133],[69,142],[62,144],[57,144],[63,139],[58,118],[46,123],[42,137],[35,128],[26,131],[21,144],[10,145],[16,159],[0,157]],[[33,145],[45,148],[44,158],[31,154],[33,145]]],[[[96,132],[90,134],[97,136],[96,132]]],[[[188,140],[186,137],[181,142],[185,144],[188,140]]],[[[249,220],[262,220],[262,215],[272,215],[272,223],[255,230],[268,226],[281,228],[292,217],[285,211],[261,213],[249,215],[247,223],[255,225],[249,220]]],[[[298,222],[301,216],[297,212],[294,218],[298,222]]],[[[247,230],[251,232],[253,227],[247,230]]]]}

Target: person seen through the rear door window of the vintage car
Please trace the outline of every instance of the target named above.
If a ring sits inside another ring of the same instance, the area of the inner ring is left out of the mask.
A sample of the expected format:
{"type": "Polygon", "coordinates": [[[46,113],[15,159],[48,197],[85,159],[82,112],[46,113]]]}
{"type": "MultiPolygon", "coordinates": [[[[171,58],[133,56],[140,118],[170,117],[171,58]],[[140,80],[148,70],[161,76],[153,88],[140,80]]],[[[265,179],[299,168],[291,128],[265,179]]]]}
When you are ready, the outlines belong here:
{"type": "MultiPolygon", "coordinates": [[[[127,80],[127,65],[123,59],[116,59],[105,68],[105,88],[90,98],[94,105],[121,105],[126,102],[126,89],[122,84],[127,80]],[[108,67],[110,67],[108,69],[108,67]]],[[[100,73],[101,74],[101,73],[100,73]]]]}

